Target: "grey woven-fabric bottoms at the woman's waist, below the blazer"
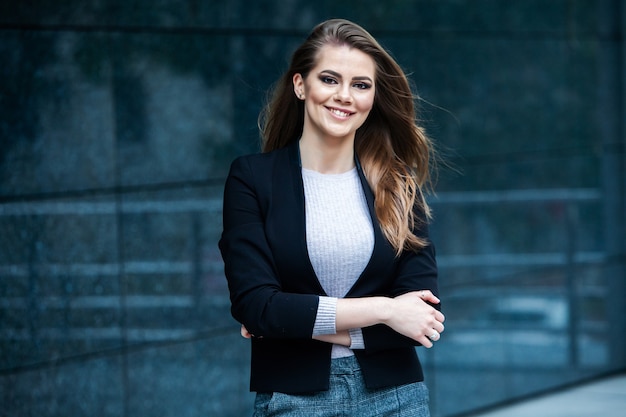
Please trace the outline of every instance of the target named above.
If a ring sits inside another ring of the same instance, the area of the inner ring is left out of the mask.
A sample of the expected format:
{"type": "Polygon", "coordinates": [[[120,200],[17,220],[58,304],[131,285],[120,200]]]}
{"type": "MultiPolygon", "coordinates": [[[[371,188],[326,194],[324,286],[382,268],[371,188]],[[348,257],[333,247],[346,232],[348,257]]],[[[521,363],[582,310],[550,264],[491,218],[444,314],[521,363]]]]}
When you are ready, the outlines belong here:
{"type": "MultiPolygon", "coordinates": [[[[305,377],[305,376],[303,376],[305,377]]],[[[330,389],[311,394],[258,393],[254,417],[429,417],[423,382],[370,390],[354,356],[332,360],[330,389]]]]}

